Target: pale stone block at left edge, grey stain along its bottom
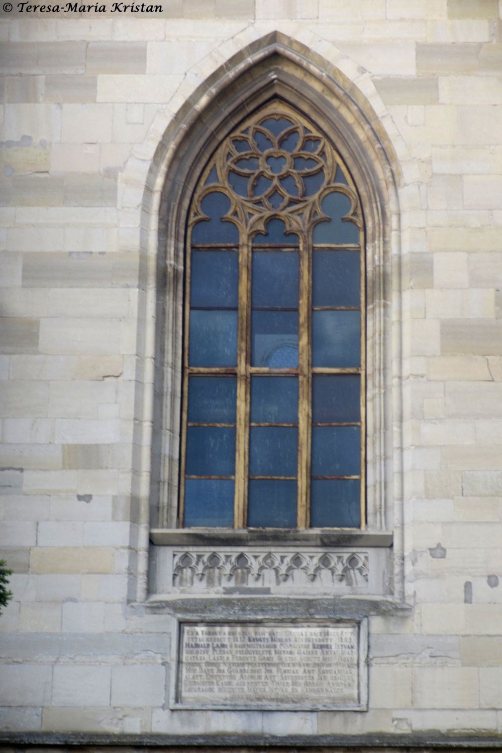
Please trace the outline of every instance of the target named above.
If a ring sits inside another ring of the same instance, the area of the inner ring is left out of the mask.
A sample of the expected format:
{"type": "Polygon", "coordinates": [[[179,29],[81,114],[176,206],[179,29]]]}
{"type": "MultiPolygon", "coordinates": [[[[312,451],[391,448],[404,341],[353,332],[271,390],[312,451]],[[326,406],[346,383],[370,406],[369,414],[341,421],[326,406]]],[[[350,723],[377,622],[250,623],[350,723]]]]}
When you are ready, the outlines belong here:
{"type": "Polygon", "coordinates": [[[61,110],[55,105],[12,104],[5,105],[2,124],[2,141],[21,142],[20,145],[60,140],[61,110]],[[27,137],[23,141],[23,136],[27,137]]]}

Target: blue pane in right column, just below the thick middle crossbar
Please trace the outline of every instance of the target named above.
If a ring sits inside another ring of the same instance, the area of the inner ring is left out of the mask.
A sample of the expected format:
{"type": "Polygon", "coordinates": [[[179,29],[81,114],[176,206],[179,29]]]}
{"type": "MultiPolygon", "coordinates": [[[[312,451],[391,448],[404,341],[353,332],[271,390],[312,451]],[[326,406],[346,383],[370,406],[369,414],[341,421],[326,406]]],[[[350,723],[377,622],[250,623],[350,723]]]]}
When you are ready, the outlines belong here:
{"type": "Polygon", "coordinates": [[[314,374],[312,420],[314,423],[359,421],[359,374],[314,374]]]}

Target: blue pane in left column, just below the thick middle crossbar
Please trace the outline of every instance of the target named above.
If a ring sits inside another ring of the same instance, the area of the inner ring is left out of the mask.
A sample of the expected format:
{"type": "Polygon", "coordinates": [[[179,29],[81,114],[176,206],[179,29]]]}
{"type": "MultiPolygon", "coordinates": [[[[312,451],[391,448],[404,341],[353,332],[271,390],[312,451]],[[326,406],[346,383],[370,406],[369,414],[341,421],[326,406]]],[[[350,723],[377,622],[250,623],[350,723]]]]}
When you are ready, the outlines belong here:
{"type": "Polygon", "coordinates": [[[190,377],[188,421],[234,423],[236,395],[235,377],[190,377]]]}

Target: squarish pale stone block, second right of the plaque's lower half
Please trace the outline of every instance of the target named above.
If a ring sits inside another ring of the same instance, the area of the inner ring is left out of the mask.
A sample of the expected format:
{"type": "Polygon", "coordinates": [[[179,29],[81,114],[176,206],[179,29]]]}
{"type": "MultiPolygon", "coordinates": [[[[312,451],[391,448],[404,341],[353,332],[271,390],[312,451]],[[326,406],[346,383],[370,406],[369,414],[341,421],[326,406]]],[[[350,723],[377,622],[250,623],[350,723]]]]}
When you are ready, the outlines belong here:
{"type": "Polygon", "coordinates": [[[413,670],[413,706],[441,708],[445,699],[451,709],[476,708],[479,676],[470,667],[420,667],[413,670]]]}

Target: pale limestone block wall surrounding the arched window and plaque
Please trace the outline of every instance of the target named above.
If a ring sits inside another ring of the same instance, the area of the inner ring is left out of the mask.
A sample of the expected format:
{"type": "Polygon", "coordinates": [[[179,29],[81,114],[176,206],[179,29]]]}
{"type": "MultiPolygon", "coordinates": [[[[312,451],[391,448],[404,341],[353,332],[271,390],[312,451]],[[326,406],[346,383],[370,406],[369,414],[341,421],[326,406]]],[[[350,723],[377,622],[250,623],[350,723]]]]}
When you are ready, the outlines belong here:
{"type": "Polygon", "coordinates": [[[0,21],[0,726],[502,733],[502,3],[111,9],[0,21]],[[392,152],[389,483],[409,608],[369,618],[368,712],[170,711],[172,623],[148,602],[159,145],[271,32],[339,70],[392,152]]]}

